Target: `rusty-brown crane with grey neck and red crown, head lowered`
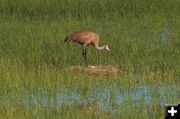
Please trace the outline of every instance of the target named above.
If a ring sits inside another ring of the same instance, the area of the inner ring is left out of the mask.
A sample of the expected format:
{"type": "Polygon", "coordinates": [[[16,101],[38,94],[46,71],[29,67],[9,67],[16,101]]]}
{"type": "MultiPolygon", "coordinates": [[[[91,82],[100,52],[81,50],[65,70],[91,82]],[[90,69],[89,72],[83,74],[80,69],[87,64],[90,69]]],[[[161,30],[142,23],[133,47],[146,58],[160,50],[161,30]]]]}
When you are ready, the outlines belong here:
{"type": "Polygon", "coordinates": [[[83,46],[82,55],[83,55],[86,63],[87,63],[86,48],[89,45],[92,45],[97,50],[103,50],[103,49],[105,49],[107,51],[111,50],[109,45],[103,45],[103,46],[99,47],[99,44],[98,44],[99,43],[99,35],[92,31],[87,31],[87,30],[78,31],[78,32],[73,31],[73,32],[69,33],[65,37],[65,40],[64,40],[64,42],[71,42],[71,41],[79,43],[83,46]]]}

